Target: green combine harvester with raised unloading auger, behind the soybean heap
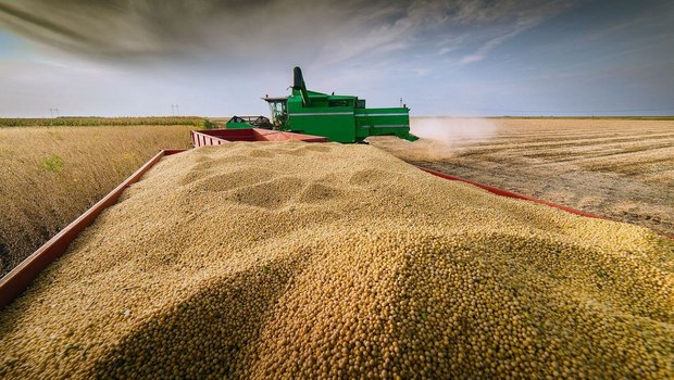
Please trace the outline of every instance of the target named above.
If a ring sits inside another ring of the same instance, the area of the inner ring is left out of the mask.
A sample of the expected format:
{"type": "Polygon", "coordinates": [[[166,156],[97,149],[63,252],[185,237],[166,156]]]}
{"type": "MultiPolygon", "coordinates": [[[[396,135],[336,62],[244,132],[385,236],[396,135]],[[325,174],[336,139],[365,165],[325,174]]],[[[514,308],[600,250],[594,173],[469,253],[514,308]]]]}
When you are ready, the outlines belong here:
{"type": "Polygon", "coordinates": [[[314,135],[337,142],[361,142],[370,136],[397,136],[414,141],[407,106],[366,109],[365,100],[309,91],[302,71],[294,69],[288,97],[262,98],[270,104],[272,121],[264,116],[234,116],[227,129],[264,128],[314,135]]]}

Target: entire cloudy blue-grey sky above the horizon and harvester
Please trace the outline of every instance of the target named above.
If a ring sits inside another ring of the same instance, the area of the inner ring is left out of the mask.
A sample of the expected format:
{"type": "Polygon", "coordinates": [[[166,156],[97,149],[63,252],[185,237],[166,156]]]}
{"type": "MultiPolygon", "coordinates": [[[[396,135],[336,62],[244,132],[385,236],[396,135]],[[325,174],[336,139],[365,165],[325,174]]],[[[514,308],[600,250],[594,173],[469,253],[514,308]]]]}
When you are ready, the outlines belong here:
{"type": "Polygon", "coordinates": [[[266,115],[296,65],[413,116],[674,115],[674,1],[0,0],[0,117],[266,115]]]}

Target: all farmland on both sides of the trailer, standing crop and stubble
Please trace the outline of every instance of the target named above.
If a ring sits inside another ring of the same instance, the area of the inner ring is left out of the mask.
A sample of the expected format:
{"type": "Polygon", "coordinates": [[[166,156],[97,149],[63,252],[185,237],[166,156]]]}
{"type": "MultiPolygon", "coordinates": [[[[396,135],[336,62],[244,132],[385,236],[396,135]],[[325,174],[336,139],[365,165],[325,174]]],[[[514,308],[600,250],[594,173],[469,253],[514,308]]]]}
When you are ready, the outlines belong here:
{"type": "MultiPolygon", "coordinates": [[[[417,165],[674,233],[672,119],[421,121],[432,122],[430,135],[444,142],[373,144],[417,165]]],[[[1,126],[13,126],[0,128],[4,274],[159,149],[188,148],[189,130],[211,125],[152,117],[0,119],[1,126]],[[49,126],[63,123],[71,126],[49,126]]]]}

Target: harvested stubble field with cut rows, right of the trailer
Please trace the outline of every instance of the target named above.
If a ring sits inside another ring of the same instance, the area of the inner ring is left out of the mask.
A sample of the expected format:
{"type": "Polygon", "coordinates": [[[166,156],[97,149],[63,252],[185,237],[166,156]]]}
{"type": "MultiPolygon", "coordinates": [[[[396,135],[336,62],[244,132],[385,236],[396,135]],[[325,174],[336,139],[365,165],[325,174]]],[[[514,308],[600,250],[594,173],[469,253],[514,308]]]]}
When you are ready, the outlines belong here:
{"type": "MultiPolygon", "coordinates": [[[[492,130],[463,131],[449,144],[373,143],[432,169],[674,235],[673,119],[483,123],[492,130]]],[[[438,128],[472,127],[462,124],[439,121],[438,128]]]]}

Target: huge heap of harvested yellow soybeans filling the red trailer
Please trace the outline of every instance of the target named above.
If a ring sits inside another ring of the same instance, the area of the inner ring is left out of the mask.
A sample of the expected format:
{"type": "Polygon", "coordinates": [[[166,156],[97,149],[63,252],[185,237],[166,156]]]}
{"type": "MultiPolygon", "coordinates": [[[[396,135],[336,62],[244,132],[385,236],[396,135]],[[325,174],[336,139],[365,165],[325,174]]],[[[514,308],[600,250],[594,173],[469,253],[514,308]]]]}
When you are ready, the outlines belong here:
{"type": "Polygon", "coordinates": [[[662,379],[673,257],[374,147],[199,148],[0,312],[0,376],[662,379]]]}

